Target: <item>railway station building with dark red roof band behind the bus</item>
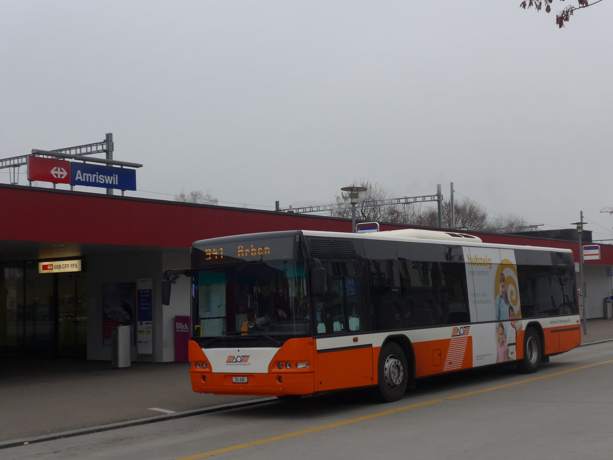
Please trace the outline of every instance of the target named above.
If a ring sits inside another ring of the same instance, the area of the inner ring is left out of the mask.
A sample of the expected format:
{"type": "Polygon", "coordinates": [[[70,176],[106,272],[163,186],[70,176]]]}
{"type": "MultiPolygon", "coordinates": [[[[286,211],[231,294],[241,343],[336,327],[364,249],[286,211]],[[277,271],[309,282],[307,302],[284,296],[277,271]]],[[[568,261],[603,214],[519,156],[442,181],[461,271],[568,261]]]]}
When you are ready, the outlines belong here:
{"type": "MultiPolygon", "coordinates": [[[[161,302],[162,272],[187,268],[195,240],[278,230],[351,231],[351,220],[99,193],[0,185],[0,356],[111,359],[113,326],[132,326],[131,359],[175,361],[177,317],[189,315],[189,280],[161,302]]],[[[407,228],[381,223],[381,231],[407,228]]],[[[576,229],[469,232],[484,242],[569,248],[576,229]]],[[[583,265],[585,314],[606,315],[613,246],[583,265]]],[[[577,267],[579,264],[576,264],[577,267]]],[[[577,283],[579,283],[577,273],[577,283]]]]}

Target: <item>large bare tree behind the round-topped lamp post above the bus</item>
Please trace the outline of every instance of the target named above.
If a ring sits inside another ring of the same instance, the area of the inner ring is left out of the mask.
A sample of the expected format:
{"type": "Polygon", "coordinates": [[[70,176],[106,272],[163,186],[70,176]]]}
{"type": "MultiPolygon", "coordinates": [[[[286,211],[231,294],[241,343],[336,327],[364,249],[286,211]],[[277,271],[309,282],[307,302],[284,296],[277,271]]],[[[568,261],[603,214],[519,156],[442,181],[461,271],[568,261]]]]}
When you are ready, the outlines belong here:
{"type": "MultiPolygon", "coordinates": [[[[398,205],[383,205],[386,199],[389,199],[389,191],[383,185],[371,183],[368,180],[362,179],[360,183],[354,183],[352,186],[365,187],[367,190],[360,192],[359,201],[356,205],[356,220],[365,220],[373,222],[395,222],[403,221],[402,209],[398,205]]],[[[343,192],[335,196],[336,204],[340,207],[332,212],[334,217],[351,218],[351,199],[349,192],[343,192]]]]}

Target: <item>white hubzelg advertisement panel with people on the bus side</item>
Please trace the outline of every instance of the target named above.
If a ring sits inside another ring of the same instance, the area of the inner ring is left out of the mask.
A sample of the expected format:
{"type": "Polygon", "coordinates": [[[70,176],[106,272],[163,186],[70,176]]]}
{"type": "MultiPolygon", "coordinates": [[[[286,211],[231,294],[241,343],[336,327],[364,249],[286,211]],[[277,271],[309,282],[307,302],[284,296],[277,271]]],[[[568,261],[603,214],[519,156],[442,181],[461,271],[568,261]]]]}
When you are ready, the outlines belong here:
{"type": "Polygon", "coordinates": [[[514,361],[521,309],[515,253],[511,249],[464,248],[474,324],[473,366],[514,361]]]}

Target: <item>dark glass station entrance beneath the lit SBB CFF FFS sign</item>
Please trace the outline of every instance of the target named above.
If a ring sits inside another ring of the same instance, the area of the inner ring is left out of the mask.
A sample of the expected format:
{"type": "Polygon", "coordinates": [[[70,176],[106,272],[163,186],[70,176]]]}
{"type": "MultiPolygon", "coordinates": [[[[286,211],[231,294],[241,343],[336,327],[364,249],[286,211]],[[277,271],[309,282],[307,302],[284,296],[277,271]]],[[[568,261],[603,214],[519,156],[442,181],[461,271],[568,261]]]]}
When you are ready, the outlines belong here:
{"type": "Polygon", "coordinates": [[[4,264],[0,353],[85,358],[85,272],[39,274],[37,263],[4,264]]]}

